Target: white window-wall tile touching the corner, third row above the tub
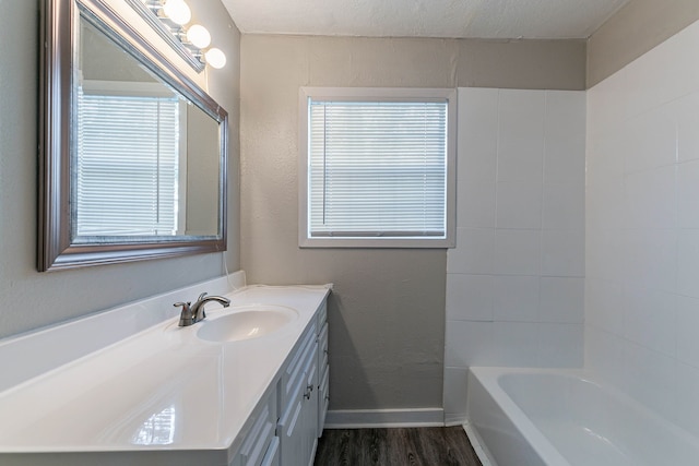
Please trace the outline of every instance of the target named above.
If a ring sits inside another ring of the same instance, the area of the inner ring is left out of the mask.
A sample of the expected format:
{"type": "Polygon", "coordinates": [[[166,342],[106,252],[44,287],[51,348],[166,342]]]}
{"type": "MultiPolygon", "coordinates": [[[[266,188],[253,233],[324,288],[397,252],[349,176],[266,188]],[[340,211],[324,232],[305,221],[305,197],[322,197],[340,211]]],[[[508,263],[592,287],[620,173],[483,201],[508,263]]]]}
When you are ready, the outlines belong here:
{"type": "Polygon", "coordinates": [[[584,276],[584,231],[542,231],[542,275],[584,276]]]}

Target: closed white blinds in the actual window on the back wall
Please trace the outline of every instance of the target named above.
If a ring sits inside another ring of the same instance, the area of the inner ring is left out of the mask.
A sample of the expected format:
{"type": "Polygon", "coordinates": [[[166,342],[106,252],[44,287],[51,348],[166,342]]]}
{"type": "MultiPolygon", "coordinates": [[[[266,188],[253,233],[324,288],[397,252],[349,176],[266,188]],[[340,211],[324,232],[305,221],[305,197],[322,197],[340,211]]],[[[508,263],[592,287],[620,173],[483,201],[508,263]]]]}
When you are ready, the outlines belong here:
{"type": "Polygon", "coordinates": [[[447,101],[309,100],[309,235],[446,238],[447,101]]]}

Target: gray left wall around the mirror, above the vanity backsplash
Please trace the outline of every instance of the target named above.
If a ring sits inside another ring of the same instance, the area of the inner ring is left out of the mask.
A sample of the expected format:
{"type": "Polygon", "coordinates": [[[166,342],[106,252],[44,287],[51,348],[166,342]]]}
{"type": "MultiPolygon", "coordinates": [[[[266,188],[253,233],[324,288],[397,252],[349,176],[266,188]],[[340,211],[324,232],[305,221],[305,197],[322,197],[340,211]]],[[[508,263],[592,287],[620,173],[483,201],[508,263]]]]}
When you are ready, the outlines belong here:
{"type": "MultiPolygon", "coordinates": [[[[238,89],[240,34],[218,0],[192,0],[228,64],[209,74],[209,92],[232,113],[229,240],[226,254],[36,272],[37,0],[1,1],[0,44],[0,337],[78,318],[239,268],[238,89]],[[208,11],[203,11],[203,10],[208,11]],[[204,17],[205,14],[205,17],[204,17]]],[[[47,348],[50,350],[50,348],[47,348]]]]}

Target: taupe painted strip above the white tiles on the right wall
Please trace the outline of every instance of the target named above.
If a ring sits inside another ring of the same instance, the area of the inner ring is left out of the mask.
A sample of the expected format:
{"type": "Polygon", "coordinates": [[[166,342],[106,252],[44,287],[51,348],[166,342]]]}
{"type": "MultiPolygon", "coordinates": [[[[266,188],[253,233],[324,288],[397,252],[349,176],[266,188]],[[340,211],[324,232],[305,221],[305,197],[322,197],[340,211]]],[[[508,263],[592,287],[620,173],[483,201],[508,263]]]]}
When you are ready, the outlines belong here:
{"type": "Polygon", "coordinates": [[[631,0],[590,37],[588,87],[697,20],[697,0],[631,0]]]}

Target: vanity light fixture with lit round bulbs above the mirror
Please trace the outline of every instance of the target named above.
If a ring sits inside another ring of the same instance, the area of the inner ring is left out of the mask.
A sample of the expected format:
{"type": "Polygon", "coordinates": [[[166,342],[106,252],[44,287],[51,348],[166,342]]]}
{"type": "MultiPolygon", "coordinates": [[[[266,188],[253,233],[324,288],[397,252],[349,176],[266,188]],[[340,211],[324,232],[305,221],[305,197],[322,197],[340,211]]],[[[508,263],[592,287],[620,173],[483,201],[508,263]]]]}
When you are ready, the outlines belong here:
{"type": "MultiPolygon", "coordinates": [[[[146,7],[143,10],[157,19],[154,25],[168,31],[181,47],[191,53],[188,61],[197,71],[202,71],[205,64],[215,69],[225,67],[226,55],[220,48],[208,48],[211,45],[209,31],[201,24],[189,25],[192,12],[185,0],[129,0],[128,2],[138,10],[142,9],[139,8],[140,5],[146,7]]],[[[153,24],[152,21],[151,23],[153,24]]]]}

